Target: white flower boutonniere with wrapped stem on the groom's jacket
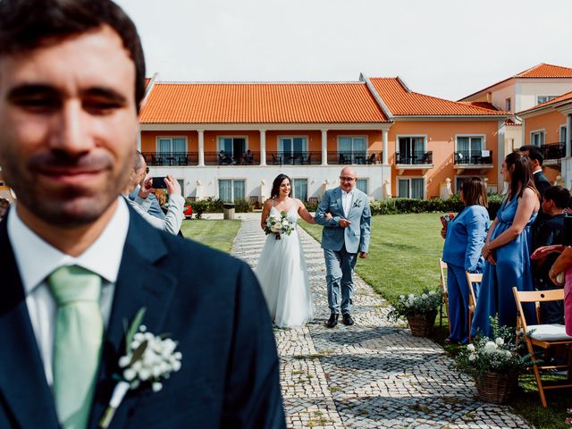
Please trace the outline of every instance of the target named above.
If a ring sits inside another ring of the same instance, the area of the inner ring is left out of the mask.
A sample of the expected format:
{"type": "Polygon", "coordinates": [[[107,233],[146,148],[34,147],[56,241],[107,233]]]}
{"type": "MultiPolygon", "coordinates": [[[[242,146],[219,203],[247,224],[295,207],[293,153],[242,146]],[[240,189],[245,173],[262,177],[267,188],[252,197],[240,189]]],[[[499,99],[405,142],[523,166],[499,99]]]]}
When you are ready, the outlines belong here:
{"type": "Polygon", "coordinates": [[[114,393],[105,409],[105,414],[99,422],[101,429],[106,429],[114,418],[115,410],[119,408],[128,391],[145,385],[153,391],[163,389],[164,379],[172,372],[181,369],[181,352],[175,351],[177,343],[165,335],[154,335],[147,332],[143,324],[145,308],[141,308],[127,329],[125,322],[125,355],[119,358],[122,374],[115,374],[119,383],[115,385],[114,393]]]}

